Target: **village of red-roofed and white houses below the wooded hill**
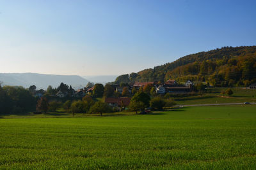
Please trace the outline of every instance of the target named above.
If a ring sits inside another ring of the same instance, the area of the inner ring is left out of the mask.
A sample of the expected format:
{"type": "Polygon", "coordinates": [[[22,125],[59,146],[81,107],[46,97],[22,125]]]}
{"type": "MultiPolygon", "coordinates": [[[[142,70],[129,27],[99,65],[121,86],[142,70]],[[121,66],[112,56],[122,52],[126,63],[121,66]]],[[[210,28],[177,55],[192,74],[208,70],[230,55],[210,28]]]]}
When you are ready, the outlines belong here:
{"type": "MultiPolygon", "coordinates": [[[[104,103],[107,103],[111,107],[117,107],[117,108],[127,108],[131,102],[131,97],[138,91],[144,91],[147,92],[149,96],[164,96],[164,94],[177,94],[177,93],[188,93],[192,92],[194,90],[194,83],[190,80],[186,81],[184,84],[179,84],[175,80],[168,80],[164,83],[158,82],[158,81],[148,81],[148,82],[134,82],[134,83],[120,83],[118,84],[106,84],[111,90],[113,90],[113,94],[111,95],[104,95],[104,91],[107,90],[107,88],[101,89],[100,95],[95,95],[93,91],[95,92],[95,87],[97,86],[103,87],[102,84],[93,84],[88,83],[86,87],[83,89],[74,90],[70,86],[68,88],[67,85],[64,83],[61,83],[58,91],[56,91],[56,94],[54,92],[49,93],[49,89],[46,91],[43,89],[36,90],[36,87],[29,87],[29,91],[33,94],[35,97],[42,97],[47,96],[51,101],[67,101],[68,99],[76,100],[76,99],[82,99],[84,96],[90,96],[90,97],[103,97],[104,103]],[[93,86],[90,86],[93,85],[93,86]],[[148,90],[147,90],[148,89],[148,90]]],[[[53,90],[54,91],[54,90],[53,90]]]]}

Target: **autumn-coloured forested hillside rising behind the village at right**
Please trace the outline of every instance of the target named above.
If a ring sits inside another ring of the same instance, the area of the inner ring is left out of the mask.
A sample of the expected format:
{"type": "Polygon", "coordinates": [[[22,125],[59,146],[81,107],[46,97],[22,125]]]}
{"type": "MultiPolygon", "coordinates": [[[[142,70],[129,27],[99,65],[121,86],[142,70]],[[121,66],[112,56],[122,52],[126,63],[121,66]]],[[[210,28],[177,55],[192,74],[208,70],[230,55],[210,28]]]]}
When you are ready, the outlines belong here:
{"type": "Polygon", "coordinates": [[[212,86],[244,86],[256,81],[256,46],[223,47],[181,57],[154,69],[124,74],[115,83],[165,81],[175,79],[205,81],[212,86]]]}

